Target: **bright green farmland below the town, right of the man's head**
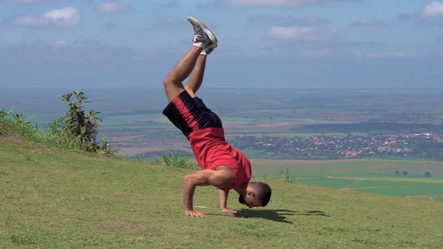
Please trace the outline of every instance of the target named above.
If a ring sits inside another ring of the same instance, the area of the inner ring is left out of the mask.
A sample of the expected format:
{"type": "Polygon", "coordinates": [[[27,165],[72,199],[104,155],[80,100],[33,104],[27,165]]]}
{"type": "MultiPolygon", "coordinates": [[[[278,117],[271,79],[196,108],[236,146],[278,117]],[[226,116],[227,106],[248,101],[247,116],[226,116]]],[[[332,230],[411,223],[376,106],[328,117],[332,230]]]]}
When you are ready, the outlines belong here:
{"type": "Polygon", "coordinates": [[[443,201],[442,177],[415,177],[430,172],[443,176],[443,163],[422,160],[251,160],[257,176],[283,180],[288,170],[293,184],[351,192],[443,201]],[[395,171],[409,176],[396,176],[395,171]],[[433,196],[429,196],[433,195],[433,196]]]}

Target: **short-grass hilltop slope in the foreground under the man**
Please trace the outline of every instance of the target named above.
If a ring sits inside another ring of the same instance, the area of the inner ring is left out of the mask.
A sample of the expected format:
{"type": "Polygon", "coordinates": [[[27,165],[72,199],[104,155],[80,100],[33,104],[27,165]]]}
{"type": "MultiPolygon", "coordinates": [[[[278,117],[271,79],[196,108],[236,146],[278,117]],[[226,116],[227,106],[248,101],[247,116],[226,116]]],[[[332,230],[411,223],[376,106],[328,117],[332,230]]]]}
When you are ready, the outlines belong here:
{"type": "Polygon", "coordinates": [[[0,136],[0,248],[441,248],[443,203],[266,181],[266,208],[183,215],[190,171],[0,136]]]}

